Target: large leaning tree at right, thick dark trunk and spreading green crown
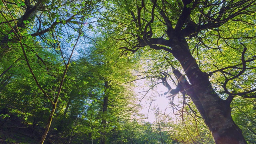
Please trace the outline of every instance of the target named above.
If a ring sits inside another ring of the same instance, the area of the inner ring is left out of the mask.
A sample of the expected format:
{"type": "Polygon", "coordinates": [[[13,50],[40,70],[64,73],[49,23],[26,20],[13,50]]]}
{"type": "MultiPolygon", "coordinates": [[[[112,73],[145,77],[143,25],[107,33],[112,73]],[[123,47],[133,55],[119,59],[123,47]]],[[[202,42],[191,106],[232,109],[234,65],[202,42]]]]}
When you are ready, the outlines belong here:
{"type": "Polygon", "coordinates": [[[106,20],[99,22],[126,43],[123,54],[166,51],[166,63],[178,78],[177,88],[169,88],[169,93],[186,92],[216,144],[247,143],[232,120],[230,103],[235,96],[256,98],[256,2],[112,0],[109,4],[102,14],[106,20]]]}

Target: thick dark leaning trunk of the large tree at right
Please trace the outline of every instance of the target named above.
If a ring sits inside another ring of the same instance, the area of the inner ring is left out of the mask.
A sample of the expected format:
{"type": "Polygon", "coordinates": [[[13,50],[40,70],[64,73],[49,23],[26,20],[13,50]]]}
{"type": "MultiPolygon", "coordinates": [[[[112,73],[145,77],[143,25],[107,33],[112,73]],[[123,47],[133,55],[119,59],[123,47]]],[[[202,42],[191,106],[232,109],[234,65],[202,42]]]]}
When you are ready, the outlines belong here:
{"type": "Polygon", "coordinates": [[[246,144],[242,131],[232,120],[231,101],[222,100],[214,91],[207,74],[200,70],[192,57],[186,39],[173,36],[170,43],[172,54],[182,65],[191,85],[184,76],[178,76],[180,83],[212,132],[216,144],[246,144]]]}

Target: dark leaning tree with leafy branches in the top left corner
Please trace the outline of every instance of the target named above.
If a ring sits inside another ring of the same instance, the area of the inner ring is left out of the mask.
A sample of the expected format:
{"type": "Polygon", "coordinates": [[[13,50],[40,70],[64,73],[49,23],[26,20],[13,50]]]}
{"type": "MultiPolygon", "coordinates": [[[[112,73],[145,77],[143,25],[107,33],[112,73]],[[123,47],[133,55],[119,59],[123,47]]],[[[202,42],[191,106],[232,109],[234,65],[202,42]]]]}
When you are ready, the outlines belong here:
{"type": "MultiPolygon", "coordinates": [[[[55,32],[61,35],[61,28],[67,23],[73,29],[76,28],[73,24],[86,23],[87,21],[82,21],[81,16],[87,15],[88,18],[94,10],[94,3],[97,3],[97,1],[1,0],[0,23],[3,29],[1,30],[2,36],[0,39],[0,60],[8,52],[14,53],[15,47],[10,44],[19,40],[15,38],[15,33],[21,32],[24,35],[29,31],[28,35],[45,39],[47,38],[45,34],[55,28],[60,30],[55,32]]],[[[48,42],[54,43],[54,41],[48,42]]]]}

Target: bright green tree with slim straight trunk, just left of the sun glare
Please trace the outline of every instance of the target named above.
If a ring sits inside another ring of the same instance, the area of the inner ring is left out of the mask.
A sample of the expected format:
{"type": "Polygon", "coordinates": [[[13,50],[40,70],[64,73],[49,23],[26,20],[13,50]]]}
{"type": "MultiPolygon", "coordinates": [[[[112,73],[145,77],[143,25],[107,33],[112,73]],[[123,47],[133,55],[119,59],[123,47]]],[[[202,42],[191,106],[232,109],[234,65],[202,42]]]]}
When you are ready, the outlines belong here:
{"type": "Polygon", "coordinates": [[[132,84],[126,84],[132,78],[132,67],[136,65],[131,59],[120,57],[120,51],[114,50],[118,46],[116,40],[107,35],[95,38],[95,43],[90,44],[90,49],[81,52],[78,60],[81,66],[86,66],[87,70],[82,73],[86,73],[83,75],[92,96],[90,114],[86,117],[94,121],[91,128],[99,131],[99,143],[106,144],[111,131],[119,127],[119,121],[125,121],[136,111],[130,88],[132,84]],[[96,118],[89,118],[91,114],[96,118]]]}

